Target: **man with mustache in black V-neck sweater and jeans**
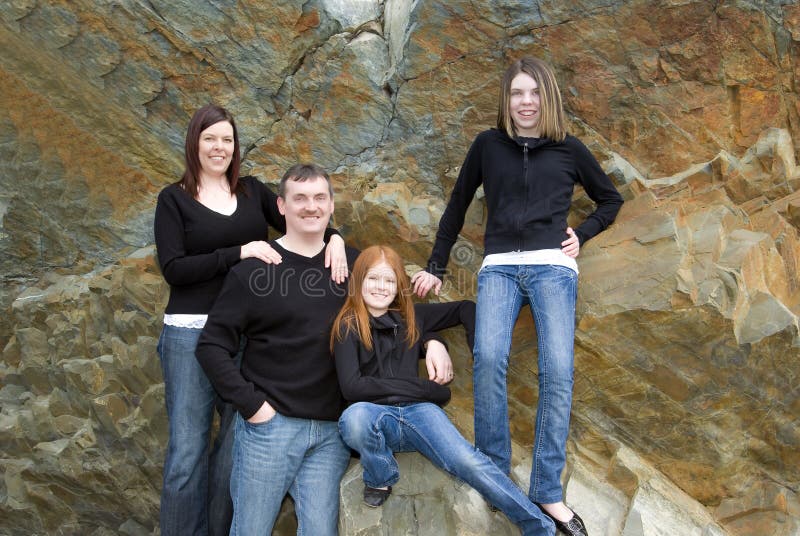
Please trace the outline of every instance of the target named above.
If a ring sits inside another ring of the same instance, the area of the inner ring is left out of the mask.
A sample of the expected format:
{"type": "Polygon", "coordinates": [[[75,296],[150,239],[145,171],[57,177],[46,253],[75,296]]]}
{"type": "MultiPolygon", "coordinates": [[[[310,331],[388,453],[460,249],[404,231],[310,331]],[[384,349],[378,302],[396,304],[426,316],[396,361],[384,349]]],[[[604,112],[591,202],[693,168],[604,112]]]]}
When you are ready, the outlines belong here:
{"type": "MultiPolygon", "coordinates": [[[[298,534],[333,536],[339,482],[350,460],[337,426],[344,400],[328,346],[347,294],[346,283],[334,282],[325,268],[333,189],[324,169],[297,164],[281,178],[278,193],[286,234],[270,245],[282,261],[246,259],[229,272],[196,356],[238,412],[231,534],[270,534],[289,493],[298,534]],[[242,335],[247,345],[240,368],[233,357],[242,335]]],[[[358,251],[346,252],[352,266],[358,251]]],[[[425,338],[432,343],[426,364],[430,379],[446,383],[452,363],[435,339],[425,338]]]]}

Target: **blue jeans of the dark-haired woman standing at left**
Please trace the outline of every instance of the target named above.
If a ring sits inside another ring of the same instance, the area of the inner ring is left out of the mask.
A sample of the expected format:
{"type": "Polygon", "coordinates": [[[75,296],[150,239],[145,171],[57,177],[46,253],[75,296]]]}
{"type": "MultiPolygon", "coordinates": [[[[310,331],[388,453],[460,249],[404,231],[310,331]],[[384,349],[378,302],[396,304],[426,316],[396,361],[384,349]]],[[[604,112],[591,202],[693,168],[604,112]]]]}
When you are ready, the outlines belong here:
{"type": "Polygon", "coordinates": [[[165,325],[158,341],[169,419],[161,534],[228,534],[233,408],[214,392],[194,356],[200,329],[165,325]],[[214,407],[220,429],[209,452],[214,407]]]}

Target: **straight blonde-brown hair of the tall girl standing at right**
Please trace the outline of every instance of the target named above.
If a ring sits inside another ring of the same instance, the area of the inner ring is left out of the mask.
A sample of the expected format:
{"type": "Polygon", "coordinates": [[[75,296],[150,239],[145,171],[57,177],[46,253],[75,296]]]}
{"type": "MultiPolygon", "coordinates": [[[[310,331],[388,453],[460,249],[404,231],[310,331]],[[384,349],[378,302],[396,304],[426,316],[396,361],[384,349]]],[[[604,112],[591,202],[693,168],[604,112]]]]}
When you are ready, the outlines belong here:
{"type": "Polygon", "coordinates": [[[536,81],[539,87],[539,135],[553,141],[564,141],[567,137],[567,122],[561,91],[558,89],[553,69],[539,58],[520,58],[506,69],[500,86],[500,103],[497,108],[497,128],[509,137],[517,135],[511,118],[511,81],[519,73],[525,73],[536,81]]]}

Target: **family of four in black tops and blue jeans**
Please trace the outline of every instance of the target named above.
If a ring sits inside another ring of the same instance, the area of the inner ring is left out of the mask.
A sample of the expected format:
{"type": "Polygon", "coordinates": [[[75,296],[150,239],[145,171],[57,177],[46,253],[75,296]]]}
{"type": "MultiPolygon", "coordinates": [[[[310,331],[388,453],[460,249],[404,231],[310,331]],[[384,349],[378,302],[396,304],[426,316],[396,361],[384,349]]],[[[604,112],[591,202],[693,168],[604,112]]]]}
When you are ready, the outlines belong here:
{"type": "Polygon", "coordinates": [[[240,176],[236,123],[224,108],[195,112],[185,160],[183,177],[159,194],[154,222],[170,287],[158,342],[169,419],[161,534],[269,535],[289,494],[298,534],[335,535],[351,457],[360,457],[365,503],[380,507],[400,479],[394,454],[412,451],[525,535],[587,534],[561,485],[576,258],[614,221],[622,197],[566,132],[552,67],[537,58],[508,67],[497,124],[470,146],[427,266],[410,278],[391,247],[359,252],[329,225],[334,191],[323,168],[292,166],[277,194],[240,176]],[[595,208],[573,229],[576,185],[595,208]],[[476,302],[415,303],[440,293],[479,186],[486,228],[476,302]],[[506,382],[526,305],[539,383],[527,493],[510,478],[506,382]],[[442,410],[454,371],[438,332],[458,325],[473,351],[474,445],[442,410]]]}

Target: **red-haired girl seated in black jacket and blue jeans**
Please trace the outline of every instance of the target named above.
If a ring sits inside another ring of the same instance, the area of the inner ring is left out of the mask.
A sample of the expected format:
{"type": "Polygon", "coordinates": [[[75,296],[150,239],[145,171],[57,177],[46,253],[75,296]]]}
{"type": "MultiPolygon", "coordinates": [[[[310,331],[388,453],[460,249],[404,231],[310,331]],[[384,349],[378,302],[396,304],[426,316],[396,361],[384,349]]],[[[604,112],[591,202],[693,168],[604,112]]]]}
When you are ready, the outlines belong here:
{"type": "Polygon", "coordinates": [[[417,373],[421,334],[463,324],[472,345],[475,304],[414,305],[403,262],[386,246],[361,253],[349,289],[331,345],[342,394],[351,403],[339,431],[361,454],[367,505],[383,504],[399,480],[394,453],[417,451],[478,490],[523,534],[553,534],[552,521],[439,407],[450,399],[450,389],[417,373]]]}

